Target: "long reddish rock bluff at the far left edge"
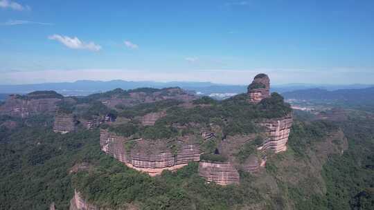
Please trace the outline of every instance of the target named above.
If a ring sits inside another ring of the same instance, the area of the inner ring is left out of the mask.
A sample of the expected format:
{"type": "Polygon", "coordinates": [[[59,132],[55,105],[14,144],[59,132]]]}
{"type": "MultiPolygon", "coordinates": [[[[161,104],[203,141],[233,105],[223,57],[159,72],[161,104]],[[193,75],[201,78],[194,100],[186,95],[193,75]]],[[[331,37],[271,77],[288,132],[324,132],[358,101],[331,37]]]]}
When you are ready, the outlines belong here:
{"type": "Polygon", "coordinates": [[[6,103],[0,106],[1,115],[15,117],[28,117],[39,113],[53,113],[57,110],[57,102],[60,98],[27,98],[17,95],[10,95],[6,103]]]}

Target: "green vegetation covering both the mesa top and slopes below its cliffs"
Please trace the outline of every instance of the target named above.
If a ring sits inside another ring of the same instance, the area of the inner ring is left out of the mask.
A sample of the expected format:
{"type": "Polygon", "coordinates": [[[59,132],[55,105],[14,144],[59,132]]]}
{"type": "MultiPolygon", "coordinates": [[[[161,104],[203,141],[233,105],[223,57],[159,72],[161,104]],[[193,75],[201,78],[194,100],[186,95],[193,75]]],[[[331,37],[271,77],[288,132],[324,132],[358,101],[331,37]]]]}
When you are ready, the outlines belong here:
{"type": "MultiPolygon", "coordinates": [[[[71,103],[72,112],[82,115],[88,110],[114,112],[96,99],[71,103]]],[[[70,107],[69,103],[59,106],[70,107]]],[[[228,135],[252,128],[250,132],[256,133],[253,120],[283,116],[289,108],[276,94],[259,104],[248,104],[246,95],[223,102],[203,97],[188,107],[171,99],[118,106],[114,112],[118,121],[127,123],[103,128],[125,136],[139,135],[150,143],[194,132],[196,123],[222,123],[228,135]],[[139,116],[165,109],[168,114],[153,126],[139,123],[139,116]],[[222,117],[229,120],[222,121],[222,117]],[[178,127],[184,125],[183,131],[170,126],[175,122],[180,122],[178,127]]],[[[74,189],[87,202],[112,209],[126,204],[133,209],[372,209],[373,120],[302,119],[294,122],[285,153],[269,153],[265,169],[253,174],[240,171],[240,184],[223,187],[200,178],[196,162],[154,178],[127,168],[100,151],[98,128],[60,135],[53,133],[53,118],[48,115],[1,116],[0,209],[48,209],[52,202],[57,209],[68,209],[74,189]]],[[[206,143],[205,148],[214,153],[216,142],[206,143]]],[[[251,153],[253,145],[249,144],[234,158],[245,160],[251,153]]]]}

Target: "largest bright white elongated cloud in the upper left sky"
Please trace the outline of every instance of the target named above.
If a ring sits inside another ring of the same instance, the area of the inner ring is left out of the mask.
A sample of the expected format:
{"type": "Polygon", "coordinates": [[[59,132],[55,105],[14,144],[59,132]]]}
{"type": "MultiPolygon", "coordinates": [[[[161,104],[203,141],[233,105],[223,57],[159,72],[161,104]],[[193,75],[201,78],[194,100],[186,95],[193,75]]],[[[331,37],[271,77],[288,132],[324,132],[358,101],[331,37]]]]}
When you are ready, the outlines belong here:
{"type": "Polygon", "coordinates": [[[79,50],[91,50],[91,51],[99,51],[101,50],[101,46],[95,44],[94,42],[90,41],[89,43],[84,43],[78,39],[78,37],[67,37],[61,35],[52,35],[49,36],[48,39],[60,41],[64,46],[72,49],[79,49],[79,50]]]}

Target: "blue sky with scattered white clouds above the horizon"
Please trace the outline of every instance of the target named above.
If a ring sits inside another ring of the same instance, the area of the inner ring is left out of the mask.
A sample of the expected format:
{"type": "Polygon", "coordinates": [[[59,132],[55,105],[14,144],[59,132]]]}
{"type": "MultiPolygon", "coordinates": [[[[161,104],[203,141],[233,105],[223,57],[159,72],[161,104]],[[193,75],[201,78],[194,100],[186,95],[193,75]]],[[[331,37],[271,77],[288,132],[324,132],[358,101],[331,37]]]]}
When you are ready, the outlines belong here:
{"type": "Polygon", "coordinates": [[[374,84],[374,1],[0,0],[0,84],[374,84]]]}

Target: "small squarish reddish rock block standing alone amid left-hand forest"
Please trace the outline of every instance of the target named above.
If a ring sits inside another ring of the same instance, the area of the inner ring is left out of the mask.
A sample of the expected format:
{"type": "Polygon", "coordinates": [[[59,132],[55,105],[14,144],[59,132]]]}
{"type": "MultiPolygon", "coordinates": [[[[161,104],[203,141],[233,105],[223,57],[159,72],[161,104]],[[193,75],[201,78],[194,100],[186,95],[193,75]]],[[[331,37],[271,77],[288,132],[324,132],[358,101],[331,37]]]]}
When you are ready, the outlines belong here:
{"type": "Polygon", "coordinates": [[[53,124],[53,131],[55,133],[69,133],[75,131],[75,116],[72,113],[59,113],[55,115],[55,122],[53,124]]]}

